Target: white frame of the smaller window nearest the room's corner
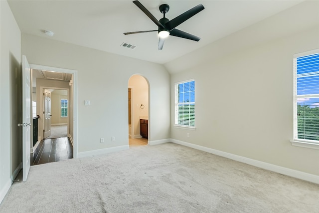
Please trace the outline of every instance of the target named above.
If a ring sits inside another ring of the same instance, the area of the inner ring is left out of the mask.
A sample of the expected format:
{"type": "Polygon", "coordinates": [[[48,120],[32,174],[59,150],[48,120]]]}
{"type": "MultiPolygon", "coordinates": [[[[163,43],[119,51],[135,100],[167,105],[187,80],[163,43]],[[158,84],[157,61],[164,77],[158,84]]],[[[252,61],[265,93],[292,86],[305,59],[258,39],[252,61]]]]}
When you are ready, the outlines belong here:
{"type": "Polygon", "coordinates": [[[196,125],[196,83],[195,83],[195,79],[189,79],[189,80],[184,80],[184,81],[179,81],[179,82],[175,82],[174,83],[174,127],[177,127],[177,128],[181,128],[181,129],[190,129],[190,130],[195,130],[195,125],[196,125]],[[194,126],[190,126],[189,125],[181,125],[181,124],[178,124],[178,105],[179,104],[183,104],[183,103],[179,103],[178,102],[178,85],[180,84],[184,84],[184,83],[187,83],[187,82],[192,82],[194,81],[194,101],[193,102],[183,102],[187,104],[194,104],[194,126]]]}

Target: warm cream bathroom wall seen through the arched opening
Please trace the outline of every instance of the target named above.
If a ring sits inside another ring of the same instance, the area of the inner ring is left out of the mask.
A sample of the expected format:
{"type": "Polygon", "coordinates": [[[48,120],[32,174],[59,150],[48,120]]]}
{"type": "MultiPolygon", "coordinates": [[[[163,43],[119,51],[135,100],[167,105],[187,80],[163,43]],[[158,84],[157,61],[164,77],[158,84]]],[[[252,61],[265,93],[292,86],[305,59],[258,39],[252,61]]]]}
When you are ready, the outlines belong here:
{"type": "Polygon", "coordinates": [[[149,115],[149,85],[146,79],[141,75],[133,75],[129,79],[129,87],[132,88],[132,106],[133,106],[133,127],[134,136],[140,135],[140,116],[149,115]],[[144,105],[141,107],[141,104],[144,105]]]}

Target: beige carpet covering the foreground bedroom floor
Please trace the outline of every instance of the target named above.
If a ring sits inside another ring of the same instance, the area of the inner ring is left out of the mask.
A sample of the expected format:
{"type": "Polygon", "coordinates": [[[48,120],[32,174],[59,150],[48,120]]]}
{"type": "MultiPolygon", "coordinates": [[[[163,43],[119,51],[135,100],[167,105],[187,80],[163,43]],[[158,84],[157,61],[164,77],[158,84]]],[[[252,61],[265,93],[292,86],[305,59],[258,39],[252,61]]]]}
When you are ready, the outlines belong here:
{"type": "Polygon", "coordinates": [[[318,213],[319,185],[173,143],[32,166],[1,213],[318,213]]]}

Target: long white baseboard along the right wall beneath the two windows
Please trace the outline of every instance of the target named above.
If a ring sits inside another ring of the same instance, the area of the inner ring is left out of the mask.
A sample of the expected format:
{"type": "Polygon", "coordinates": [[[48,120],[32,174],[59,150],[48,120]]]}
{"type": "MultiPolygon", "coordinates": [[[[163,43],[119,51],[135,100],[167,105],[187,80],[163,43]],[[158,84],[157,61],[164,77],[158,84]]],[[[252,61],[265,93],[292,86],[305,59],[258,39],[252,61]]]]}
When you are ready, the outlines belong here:
{"type": "Polygon", "coordinates": [[[319,184],[319,176],[317,175],[313,175],[313,174],[309,174],[309,173],[305,173],[305,172],[301,172],[301,171],[297,171],[297,170],[293,170],[293,169],[289,169],[286,167],[281,167],[281,166],[277,166],[274,164],[269,164],[269,163],[265,163],[262,161],[257,161],[257,160],[253,160],[250,158],[246,158],[246,157],[242,157],[239,155],[234,155],[231,153],[227,153],[227,152],[222,152],[219,150],[215,150],[215,149],[211,149],[211,148],[207,148],[207,147],[203,147],[203,146],[199,146],[196,144],[191,144],[191,143],[187,143],[184,141],[179,141],[179,140],[175,140],[175,139],[170,139],[171,142],[175,143],[175,144],[179,144],[179,145],[183,145],[186,147],[190,147],[193,149],[197,149],[197,150],[201,150],[204,152],[208,152],[214,155],[218,155],[218,156],[222,156],[225,158],[229,158],[238,162],[242,162],[245,164],[249,164],[255,167],[259,167],[262,169],[266,169],[266,170],[270,170],[279,174],[283,174],[283,175],[287,175],[287,176],[291,176],[294,178],[298,178],[304,181],[309,181],[315,184],[319,184]]]}

